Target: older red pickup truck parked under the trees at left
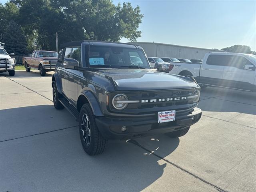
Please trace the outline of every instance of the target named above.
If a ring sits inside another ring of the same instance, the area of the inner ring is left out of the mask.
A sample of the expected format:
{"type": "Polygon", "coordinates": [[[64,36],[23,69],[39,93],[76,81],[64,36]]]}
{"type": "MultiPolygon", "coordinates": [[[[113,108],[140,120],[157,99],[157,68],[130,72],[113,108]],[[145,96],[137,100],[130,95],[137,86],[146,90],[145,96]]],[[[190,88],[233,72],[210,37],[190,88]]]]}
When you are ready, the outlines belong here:
{"type": "Polygon", "coordinates": [[[33,51],[31,57],[23,57],[22,63],[26,68],[26,72],[30,72],[31,68],[39,70],[41,76],[45,76],[46,72],[54,71],[57,63],[58,53],[55,51],[33,51]]]}

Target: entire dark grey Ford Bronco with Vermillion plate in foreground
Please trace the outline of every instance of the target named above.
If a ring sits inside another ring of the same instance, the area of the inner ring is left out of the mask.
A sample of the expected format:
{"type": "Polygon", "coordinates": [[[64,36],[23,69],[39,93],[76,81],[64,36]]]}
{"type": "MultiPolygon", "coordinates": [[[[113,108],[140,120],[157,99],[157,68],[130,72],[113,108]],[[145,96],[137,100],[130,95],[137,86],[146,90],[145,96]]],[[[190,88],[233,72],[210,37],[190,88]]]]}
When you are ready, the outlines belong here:
{"type": "Polygon", "coordinates": [[[150,70],[140,46],[82,41],[60,46],[53,103],[79,122],[84,151],[103,152],[108,139],[185,135],[198,122],[200,87],[193,78],[150,70]],[[142,66],[131,63],[137,55],[142,66]]]}

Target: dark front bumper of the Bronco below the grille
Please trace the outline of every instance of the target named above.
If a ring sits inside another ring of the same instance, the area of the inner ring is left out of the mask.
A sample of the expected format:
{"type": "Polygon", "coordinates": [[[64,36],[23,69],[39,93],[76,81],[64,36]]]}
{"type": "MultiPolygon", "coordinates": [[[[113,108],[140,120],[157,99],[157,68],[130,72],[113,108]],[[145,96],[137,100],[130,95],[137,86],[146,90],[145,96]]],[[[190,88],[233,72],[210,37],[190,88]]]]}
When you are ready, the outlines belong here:
{"type": "Polygon", "coordinates": [[[152,116],[146,118],[96,117],[96,124],[104,138],[125,140],[180,130],[198,122],[201,115],[202,110],[194,108],[194,111],[188,115],[176,116],[175,121],[160,124],[157,122],[157,116],[154,118],[152,116]],[[126,126],[125,132],[121,131],[122,126],[126,126]]]}

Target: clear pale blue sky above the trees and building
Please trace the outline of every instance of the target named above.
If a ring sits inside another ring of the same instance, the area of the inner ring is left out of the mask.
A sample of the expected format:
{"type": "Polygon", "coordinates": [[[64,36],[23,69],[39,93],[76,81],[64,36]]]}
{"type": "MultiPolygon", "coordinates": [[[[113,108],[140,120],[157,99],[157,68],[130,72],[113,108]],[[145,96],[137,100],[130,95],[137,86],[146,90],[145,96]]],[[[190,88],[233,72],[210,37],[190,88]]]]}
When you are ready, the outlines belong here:
{"type": "Polygon", "coordinates": [[[144,14],[138,42],[218,49],[242,44],[256,51],[256,0],[113,0],[127,1],[144,14]]]}

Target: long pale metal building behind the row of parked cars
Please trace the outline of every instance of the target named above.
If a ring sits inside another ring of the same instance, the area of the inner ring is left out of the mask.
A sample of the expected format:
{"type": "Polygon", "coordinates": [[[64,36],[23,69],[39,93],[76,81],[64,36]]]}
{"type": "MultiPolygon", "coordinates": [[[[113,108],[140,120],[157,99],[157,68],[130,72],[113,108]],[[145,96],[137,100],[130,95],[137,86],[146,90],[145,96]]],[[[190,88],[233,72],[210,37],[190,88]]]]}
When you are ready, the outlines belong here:
{"type": "Polygon", "coordinates": [[[130,42],[141,46],[150,57],[174,57],[182,59],[203,59],[208,52],[225,52],[221,50],[204,49],[164,43],[130,42]]]}

